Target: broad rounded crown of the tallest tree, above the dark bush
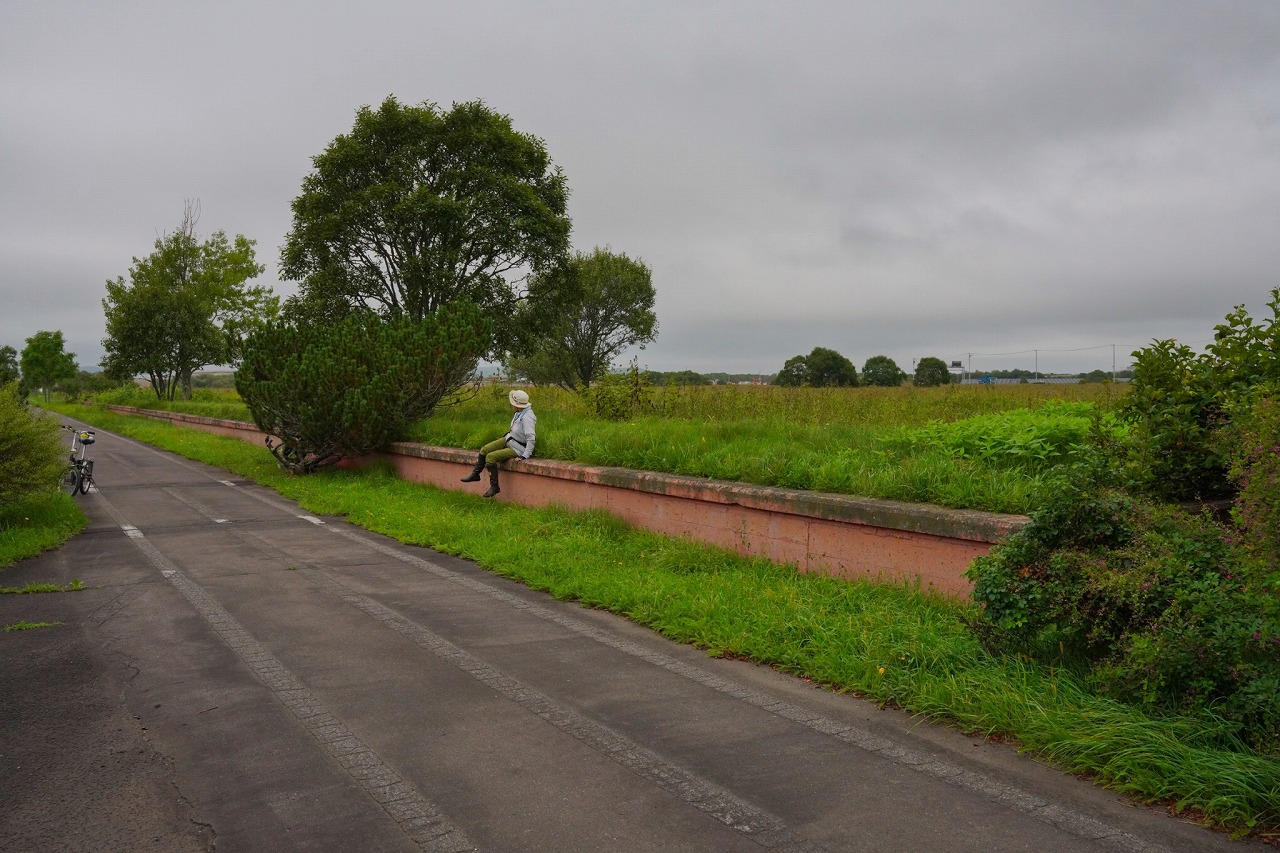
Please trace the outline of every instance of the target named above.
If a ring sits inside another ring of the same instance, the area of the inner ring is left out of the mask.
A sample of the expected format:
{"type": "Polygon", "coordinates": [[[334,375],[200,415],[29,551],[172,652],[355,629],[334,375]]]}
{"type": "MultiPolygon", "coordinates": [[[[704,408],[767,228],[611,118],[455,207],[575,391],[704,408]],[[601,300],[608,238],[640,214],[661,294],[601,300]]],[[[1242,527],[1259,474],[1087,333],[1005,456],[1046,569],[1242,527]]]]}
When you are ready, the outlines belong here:
{"type": "Polygon", "coordinates": [[[541,140],[479,101],[364,106],[312,164],[280,250],[300,282],[296,320],[420,320],[458,300],[509,316],[529,274],[567,251],[563,174],[541,140]]]}

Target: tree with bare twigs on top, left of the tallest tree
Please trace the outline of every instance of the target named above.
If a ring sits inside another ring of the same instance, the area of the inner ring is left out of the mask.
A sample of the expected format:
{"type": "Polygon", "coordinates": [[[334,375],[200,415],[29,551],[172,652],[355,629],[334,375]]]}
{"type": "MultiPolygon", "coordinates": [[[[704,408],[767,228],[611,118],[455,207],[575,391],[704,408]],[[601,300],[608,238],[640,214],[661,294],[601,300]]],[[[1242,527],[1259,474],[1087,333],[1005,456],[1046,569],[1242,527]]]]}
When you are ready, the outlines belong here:
{"type": "Polygon", "coordinates": [[[262,273],[255,241],[218,231],[201,240],[188,205],[182,224],[159,237],[146,257],[133,259],[129,280],[106,283],[106,355],[116,379],[146,377],[156,397],[191,397],[191,374],[211,364],[236,364],[244,334],[279,311],[269,287],[248,282],[262,273]]]}

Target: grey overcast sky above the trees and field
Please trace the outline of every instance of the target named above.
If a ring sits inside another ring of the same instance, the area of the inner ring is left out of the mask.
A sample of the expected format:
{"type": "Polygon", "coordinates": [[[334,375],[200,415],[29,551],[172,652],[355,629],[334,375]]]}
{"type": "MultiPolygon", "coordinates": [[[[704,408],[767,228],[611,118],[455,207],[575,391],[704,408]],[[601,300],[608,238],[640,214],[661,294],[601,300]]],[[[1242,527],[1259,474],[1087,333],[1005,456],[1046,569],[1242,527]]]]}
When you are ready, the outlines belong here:
{"type": "Polygon", "coordinates": [[[1110,370],[1280,286],[1276,0],[4,0],[0,345],[96,369],[186,200],[293,293],[289,202],[388,95],[545,141],[573,247],[653,269],[654,370],[1110,370]]]}

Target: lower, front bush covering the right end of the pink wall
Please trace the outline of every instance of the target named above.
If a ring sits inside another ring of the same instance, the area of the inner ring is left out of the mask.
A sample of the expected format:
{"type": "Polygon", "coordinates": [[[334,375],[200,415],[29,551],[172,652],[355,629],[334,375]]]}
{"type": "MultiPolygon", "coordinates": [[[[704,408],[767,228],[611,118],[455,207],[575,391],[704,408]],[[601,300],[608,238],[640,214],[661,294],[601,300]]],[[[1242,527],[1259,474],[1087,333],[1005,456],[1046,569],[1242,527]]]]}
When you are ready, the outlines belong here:
{"type": "Polygon", "coordinates": [[[1078,471],[969,569],[992,651],[1076,669],[1148,712],[1207,712],[1280,749],[1280,601],[1208,515],[1078,471]]]}

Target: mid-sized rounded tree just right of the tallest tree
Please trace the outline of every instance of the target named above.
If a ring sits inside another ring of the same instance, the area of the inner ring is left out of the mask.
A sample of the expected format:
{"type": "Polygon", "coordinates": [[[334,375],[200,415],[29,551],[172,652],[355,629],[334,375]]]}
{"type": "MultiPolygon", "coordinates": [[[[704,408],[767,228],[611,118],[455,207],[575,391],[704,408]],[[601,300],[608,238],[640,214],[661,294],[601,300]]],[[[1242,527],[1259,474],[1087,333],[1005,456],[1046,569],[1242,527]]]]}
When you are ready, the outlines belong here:
{"type": "Polygon", "coordinates": [[[644,261],[607,248],[579,252],[530,280],[508,366],[539,384],[586,388],[625,348],[657,337],[654,296],[644,261]]]}

